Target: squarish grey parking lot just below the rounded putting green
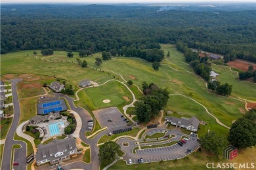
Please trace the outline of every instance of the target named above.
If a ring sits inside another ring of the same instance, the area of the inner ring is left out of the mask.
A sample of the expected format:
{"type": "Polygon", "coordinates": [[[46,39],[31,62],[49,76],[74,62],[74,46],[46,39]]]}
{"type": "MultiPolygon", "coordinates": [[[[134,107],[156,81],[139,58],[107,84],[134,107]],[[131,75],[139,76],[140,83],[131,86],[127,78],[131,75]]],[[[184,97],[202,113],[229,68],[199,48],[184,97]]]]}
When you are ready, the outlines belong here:
{"type": "Polygon", "coordinates": [[[93,111],[96,119],[101,127],[108,127],[114,129],[115,127],[126,126],[126,122],[121,118],[121,112],[116,107],[110,107],[107,109],[100,109],[93,111]],[[109,122],[108,120],[112,120],[109,122]]]}

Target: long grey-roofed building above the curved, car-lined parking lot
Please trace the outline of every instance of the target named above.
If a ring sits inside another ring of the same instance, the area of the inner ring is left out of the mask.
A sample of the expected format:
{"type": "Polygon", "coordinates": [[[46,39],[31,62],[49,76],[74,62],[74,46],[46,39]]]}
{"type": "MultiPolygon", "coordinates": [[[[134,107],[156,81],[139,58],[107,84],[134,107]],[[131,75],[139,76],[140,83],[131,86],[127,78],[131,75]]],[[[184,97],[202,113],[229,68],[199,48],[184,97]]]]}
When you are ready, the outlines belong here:
{"type": "Polygon", "coordinates": [[[195,116],[192,116],[191,118],[167,116],[165,117],[165,121],[175,125],[176,127],[184,127],[189,131],[198,131],[199,120],[195,116]]]}

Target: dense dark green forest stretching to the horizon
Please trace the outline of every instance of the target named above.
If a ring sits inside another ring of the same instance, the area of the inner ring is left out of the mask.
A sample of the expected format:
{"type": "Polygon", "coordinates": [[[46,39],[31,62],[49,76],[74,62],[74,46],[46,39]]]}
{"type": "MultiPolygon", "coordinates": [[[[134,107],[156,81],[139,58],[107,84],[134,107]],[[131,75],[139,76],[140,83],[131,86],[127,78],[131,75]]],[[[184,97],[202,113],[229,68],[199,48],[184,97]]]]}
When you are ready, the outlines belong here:
{"type": "MultiPolygon", "coordinates": [[[[159,43],[256,61],[256,10],[121,5],[1,5],[1,54],[53,49],[136,56],[159,43]]],[[[149,59],[150,60],[150,59],[149,59]]]]}

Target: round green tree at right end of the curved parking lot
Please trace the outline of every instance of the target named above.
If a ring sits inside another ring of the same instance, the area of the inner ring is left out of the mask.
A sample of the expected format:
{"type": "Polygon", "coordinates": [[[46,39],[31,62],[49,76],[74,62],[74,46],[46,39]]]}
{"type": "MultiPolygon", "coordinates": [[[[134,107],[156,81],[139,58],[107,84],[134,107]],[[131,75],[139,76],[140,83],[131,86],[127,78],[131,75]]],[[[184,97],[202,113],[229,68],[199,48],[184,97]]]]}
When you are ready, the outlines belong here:
{"type": "Polygon", "coordinates": [[[205,135],[200,138],[200,143],[205,150],[213,152],[215,155],[221,154],[223,148],[228,144],[226,138],[223,135],[217,135],[215,131],[205,133],[205,135]]]}

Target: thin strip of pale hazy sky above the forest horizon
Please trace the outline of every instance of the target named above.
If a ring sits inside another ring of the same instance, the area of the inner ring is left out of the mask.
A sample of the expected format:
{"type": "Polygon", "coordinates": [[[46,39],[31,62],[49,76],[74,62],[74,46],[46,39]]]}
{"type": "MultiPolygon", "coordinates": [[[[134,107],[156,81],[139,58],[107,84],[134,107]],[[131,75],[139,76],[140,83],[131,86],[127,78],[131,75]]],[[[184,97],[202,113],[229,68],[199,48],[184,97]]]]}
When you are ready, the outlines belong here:
{"type": "Polygon", "coordinates": [[[1,3],[256,3],[256,0],[1,0],[1,3]]]}

